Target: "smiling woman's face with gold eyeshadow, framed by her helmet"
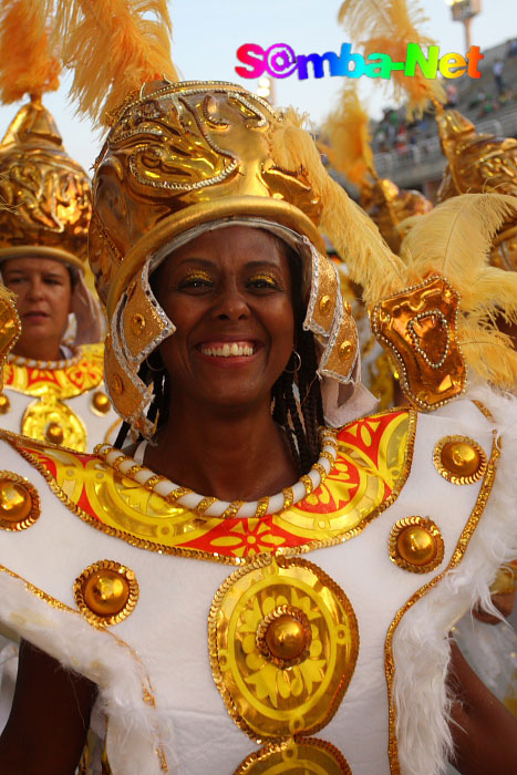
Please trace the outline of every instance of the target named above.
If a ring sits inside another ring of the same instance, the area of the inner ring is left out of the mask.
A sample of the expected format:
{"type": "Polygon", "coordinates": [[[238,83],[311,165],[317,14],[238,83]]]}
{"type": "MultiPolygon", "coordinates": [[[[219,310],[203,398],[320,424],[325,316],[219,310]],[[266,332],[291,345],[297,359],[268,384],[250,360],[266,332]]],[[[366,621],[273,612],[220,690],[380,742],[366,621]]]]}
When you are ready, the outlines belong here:
{"type": "Polygon", "coordinates": [[[153,287],[176,326],[161,347],[173,407],[239,411],[270,401],[294,338],[281,240],[242,226],[207,231],[162,264],[153,287]]]}

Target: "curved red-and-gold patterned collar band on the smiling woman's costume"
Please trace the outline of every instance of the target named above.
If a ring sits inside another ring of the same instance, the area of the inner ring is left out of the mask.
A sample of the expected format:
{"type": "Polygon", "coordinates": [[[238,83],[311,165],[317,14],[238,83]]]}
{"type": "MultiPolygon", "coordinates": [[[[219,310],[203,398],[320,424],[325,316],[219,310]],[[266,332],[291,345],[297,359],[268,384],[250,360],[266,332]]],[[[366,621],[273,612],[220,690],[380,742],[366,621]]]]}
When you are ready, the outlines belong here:
{"type": "Polygon", "coordinates": [[[135,546],[229,565],[259,554],[296,555],[361,533],[399,496],[411,468],[416,413],[399,410],[345,425],[324,483],[303,500],[262,517],[199,516],[168,504],[95,455],[4,433],[58,497],[84,521],[135,546]]]}

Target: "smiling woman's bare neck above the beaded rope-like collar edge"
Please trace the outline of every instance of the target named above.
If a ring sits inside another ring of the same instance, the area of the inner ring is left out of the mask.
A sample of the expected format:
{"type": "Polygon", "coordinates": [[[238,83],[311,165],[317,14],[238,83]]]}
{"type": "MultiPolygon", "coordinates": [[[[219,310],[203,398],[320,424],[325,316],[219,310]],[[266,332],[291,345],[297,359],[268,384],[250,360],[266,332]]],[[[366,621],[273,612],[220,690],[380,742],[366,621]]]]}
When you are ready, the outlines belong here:
{"type": "Polygon", "coordinates": [[[147,446],[145,465],[223,500],[256,500],[298,479],[285,432],[269,405],[240,416],[204,414],[199,407],[176,411],[156,446],[147,446]]]}

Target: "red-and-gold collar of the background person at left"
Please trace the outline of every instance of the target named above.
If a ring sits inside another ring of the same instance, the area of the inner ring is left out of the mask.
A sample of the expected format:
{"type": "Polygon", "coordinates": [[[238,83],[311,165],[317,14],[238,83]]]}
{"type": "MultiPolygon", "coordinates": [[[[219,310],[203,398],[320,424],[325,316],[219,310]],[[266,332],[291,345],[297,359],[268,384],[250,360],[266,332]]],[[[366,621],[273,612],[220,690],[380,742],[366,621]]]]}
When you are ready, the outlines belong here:
{"type": "Polygon", "coordinates": [[[43,365],[19,365],[7,362],[3,366],[4,386],[25,395],[73,399],[100,385],[104,379],[103,344],[83,344],[79,358],[60,369],[43,365]]]}

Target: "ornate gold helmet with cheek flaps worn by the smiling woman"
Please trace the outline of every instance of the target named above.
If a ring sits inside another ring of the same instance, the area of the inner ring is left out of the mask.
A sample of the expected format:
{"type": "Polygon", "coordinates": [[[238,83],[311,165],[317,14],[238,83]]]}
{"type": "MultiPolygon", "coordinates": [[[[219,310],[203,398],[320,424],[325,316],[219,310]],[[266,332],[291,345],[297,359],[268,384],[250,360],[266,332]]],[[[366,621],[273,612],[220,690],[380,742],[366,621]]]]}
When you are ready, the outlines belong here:
{"type": "Polygon", "coordinates": [[[95,165],[90,259],[111,321],[106,381],[120,413],[151,432],[151,394],[137,371],[174,323],[149,271],[207,224],[263,226],[291,241],[309,278],[306,328],[324,341],[320,373],[350,382],[356,331],[318,230],[324,196],[302,162],[278,156],[279,137],[300,132],[292,117],[235,84],[162,81],[112,120],[95,165]]]}

